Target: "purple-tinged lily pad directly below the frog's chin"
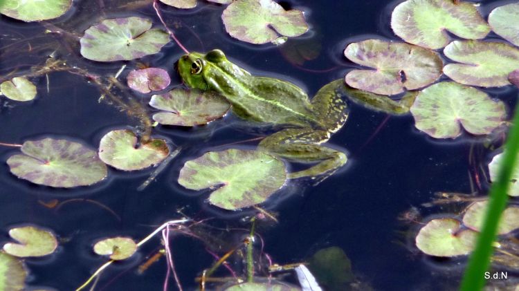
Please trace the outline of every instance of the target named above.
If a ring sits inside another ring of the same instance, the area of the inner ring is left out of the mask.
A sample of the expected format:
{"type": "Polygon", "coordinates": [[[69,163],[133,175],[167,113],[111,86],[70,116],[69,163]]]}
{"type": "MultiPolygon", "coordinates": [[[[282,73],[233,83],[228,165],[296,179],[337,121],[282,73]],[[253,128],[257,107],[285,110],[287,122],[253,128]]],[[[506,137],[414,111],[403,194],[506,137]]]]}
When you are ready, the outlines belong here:
{"type": "Polygon", "coordinates": [[[224,116],[230,109],[229,102],[215,91],[181,88],[162,95],[153,95],[149,105],[163,110],[155,113],[153,120],[160,124],[178,126],[208,124],[224,116]]]}

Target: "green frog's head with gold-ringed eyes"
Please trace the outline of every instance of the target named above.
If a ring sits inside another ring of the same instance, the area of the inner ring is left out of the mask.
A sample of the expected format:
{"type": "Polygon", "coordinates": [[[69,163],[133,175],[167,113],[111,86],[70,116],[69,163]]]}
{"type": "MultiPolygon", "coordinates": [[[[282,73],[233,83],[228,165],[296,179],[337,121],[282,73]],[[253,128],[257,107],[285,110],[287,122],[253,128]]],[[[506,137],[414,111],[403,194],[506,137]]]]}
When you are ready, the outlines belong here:
{"type": "Polygon", "coordinates": [[[189,53],[179,59],[179,74],[190,88],[207,90],[209,85],[206,77],[210,67],[218,66],[218,63],[224,60],[226,60],[226,56],[221,50],[211,50],[206,55],[196,52],[189,53]]]}

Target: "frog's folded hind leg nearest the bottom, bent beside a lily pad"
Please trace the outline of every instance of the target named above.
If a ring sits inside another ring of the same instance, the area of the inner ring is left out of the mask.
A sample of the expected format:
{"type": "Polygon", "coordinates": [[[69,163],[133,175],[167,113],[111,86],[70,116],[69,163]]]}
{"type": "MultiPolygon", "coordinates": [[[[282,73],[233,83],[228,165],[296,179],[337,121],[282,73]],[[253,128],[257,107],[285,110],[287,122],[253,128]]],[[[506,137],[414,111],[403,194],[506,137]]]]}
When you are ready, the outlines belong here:
{"type": "Polygon", "coordinates": [[[318,162],[308,169],[289,173],[289,178],[311,177],[324,180],[345,165],[346,154],[320,143],[329,139],[327,131],[314,129],[284,129],[268,136],[259,148],[275,156],[295,162],[318,162]]]}

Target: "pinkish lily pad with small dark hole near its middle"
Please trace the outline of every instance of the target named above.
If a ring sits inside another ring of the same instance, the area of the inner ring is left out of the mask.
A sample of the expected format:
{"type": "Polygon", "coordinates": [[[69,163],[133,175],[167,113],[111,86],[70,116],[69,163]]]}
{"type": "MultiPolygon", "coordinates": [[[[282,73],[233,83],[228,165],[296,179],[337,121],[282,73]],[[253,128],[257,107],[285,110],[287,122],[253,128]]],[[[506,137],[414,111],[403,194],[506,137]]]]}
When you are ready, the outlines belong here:
{"type": "Polygon", "coordinates": [[[432,84],[441,75],[443,66],[439,55],[432,50],[379,39],[349,44],[344,55],[356,64],[374,68],[349,71],[346,83],[381,95],[394,95],[432,84]]]}

